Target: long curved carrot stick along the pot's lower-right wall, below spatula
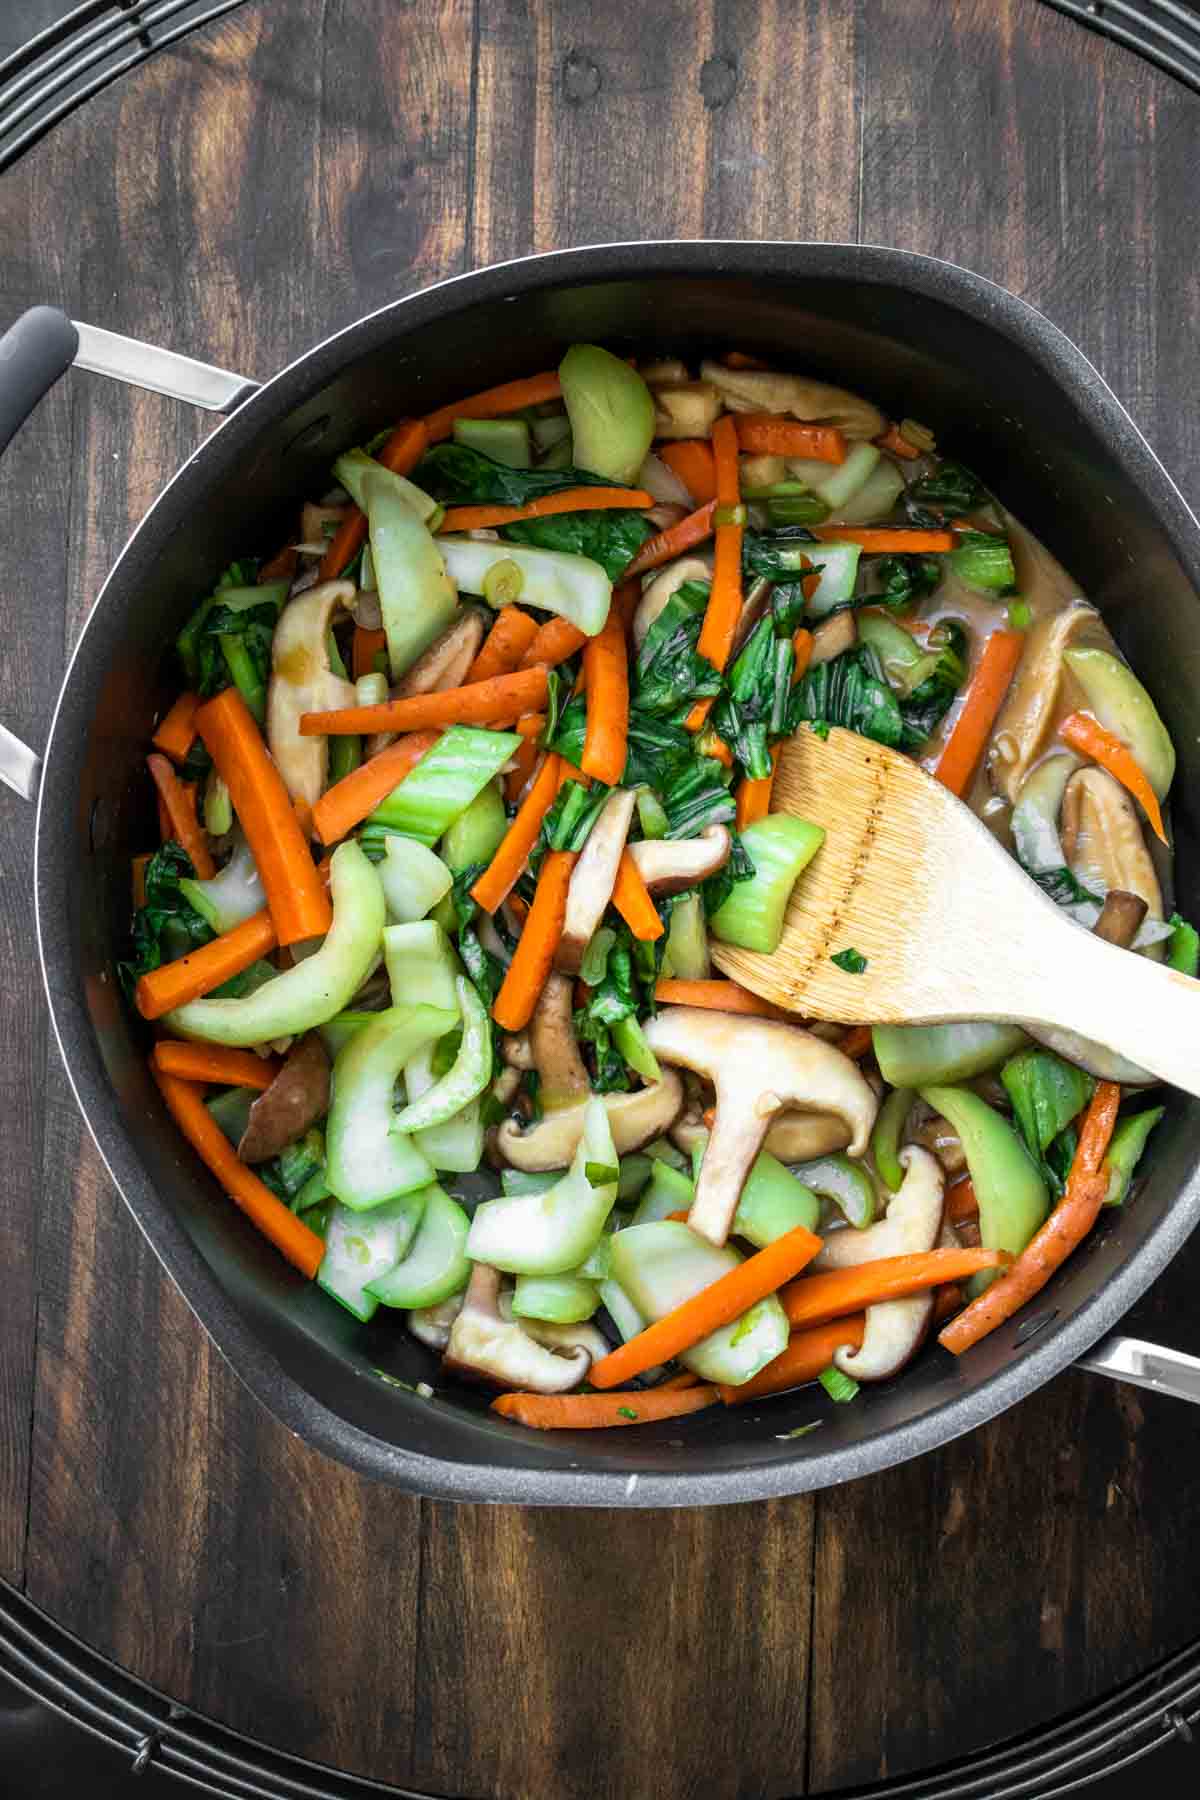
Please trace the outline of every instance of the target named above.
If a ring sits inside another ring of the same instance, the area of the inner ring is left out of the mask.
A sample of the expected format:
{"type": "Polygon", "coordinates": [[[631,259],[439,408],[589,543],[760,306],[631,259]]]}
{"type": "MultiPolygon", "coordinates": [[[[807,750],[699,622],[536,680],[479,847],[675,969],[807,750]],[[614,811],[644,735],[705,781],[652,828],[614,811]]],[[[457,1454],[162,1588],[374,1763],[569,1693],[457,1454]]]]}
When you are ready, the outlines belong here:
{"type": "Polygon", "coordinates": [[[1108,1175],[1101,1165],[1114,1125],[1121,1089],[1115,1082],[1097,1082],[1090,1105],[1079,1127],[1079,1143],[1070,1163],[1063,1197],[1038,1235],[1025,1244],[1016,1262],[999,1282],[993,1282],[964,1312],[941,1332],[937,1343],[963,1355],[981,1337],[1011,1319],[1020,1307],[1040,1292],[1072,1249],[1088,1235],[1108,1192],[1108,1175]]]}

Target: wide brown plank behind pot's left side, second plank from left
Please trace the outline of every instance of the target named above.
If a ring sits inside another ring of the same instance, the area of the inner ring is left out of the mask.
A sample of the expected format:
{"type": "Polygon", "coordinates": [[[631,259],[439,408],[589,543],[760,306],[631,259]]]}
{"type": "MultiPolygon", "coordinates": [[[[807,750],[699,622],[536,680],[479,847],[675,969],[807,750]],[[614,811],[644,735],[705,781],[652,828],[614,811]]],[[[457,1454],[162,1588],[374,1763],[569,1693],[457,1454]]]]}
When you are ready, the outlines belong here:
{"type": "MultiPolygon", "coordinates": [[[[295,9],[250,7],[34,151],[61,194],[90,144],[115,146],[72,238],[79,315],[261,374],[455,272],[473,9],[394,20],[387,0],[329,4],[313,32],[295,9]]],[[[74,463],[59,445],[76,472],[72,635],[210,428],[74,380],[74,463]]],[[[241,1390],[121,1208],[58,1071],[45,1121],[31,1595],[187,1705],[403,1780],[419,1505],[306,1449],[241,1390]]]]}

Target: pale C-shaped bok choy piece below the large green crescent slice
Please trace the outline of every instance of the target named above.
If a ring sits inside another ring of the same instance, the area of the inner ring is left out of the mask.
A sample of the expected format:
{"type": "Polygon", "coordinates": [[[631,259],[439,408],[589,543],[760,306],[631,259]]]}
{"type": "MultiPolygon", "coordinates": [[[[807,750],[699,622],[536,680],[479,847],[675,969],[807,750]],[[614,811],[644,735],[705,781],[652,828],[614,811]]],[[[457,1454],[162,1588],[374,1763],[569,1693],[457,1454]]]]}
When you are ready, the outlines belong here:
{"type": "Polygon", "coordinates": [[[369,1211],[432,1183],[428,1161],[396,1129],[396,1078],[453,1026],[455,1015],[439,1006],[389,1006],[340,1051],[326,1125],[326,1181],[342,1206],[369,1211]]]}

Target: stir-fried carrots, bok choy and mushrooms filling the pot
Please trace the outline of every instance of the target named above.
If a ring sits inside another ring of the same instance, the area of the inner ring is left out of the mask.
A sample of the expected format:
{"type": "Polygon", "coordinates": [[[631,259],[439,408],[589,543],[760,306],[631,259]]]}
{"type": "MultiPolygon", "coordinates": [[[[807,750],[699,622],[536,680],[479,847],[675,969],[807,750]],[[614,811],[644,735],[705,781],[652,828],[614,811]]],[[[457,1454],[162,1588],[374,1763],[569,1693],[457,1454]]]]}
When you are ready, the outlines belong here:
{"type": "Polygon", "coordinates": [[[576,344],[331,479],[184,625],[148,756],[122,977],[230,1199],[533,1427],[849,1400],[1007,1319],[1126,1201],[1141,1071],[810,1030],[709,945],[775,949],[824,837],[779,743],[844,725],[1195,974],[1175,752],[1097,612],[927,427],[739,353],[576,344]]]}

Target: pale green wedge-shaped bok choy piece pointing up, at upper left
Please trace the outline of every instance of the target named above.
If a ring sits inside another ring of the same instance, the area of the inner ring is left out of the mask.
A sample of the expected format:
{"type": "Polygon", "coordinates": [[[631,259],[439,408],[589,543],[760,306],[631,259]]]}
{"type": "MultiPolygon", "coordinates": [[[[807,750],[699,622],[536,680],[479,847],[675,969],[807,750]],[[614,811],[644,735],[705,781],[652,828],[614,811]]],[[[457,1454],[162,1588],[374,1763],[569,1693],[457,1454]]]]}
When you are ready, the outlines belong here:
{"type": "Polygon", "coordinates": [[[392,680],[441,637],[459,607],[439,544],[408,504],[401,479],[380,468],[362,482],[392,680]]]}

